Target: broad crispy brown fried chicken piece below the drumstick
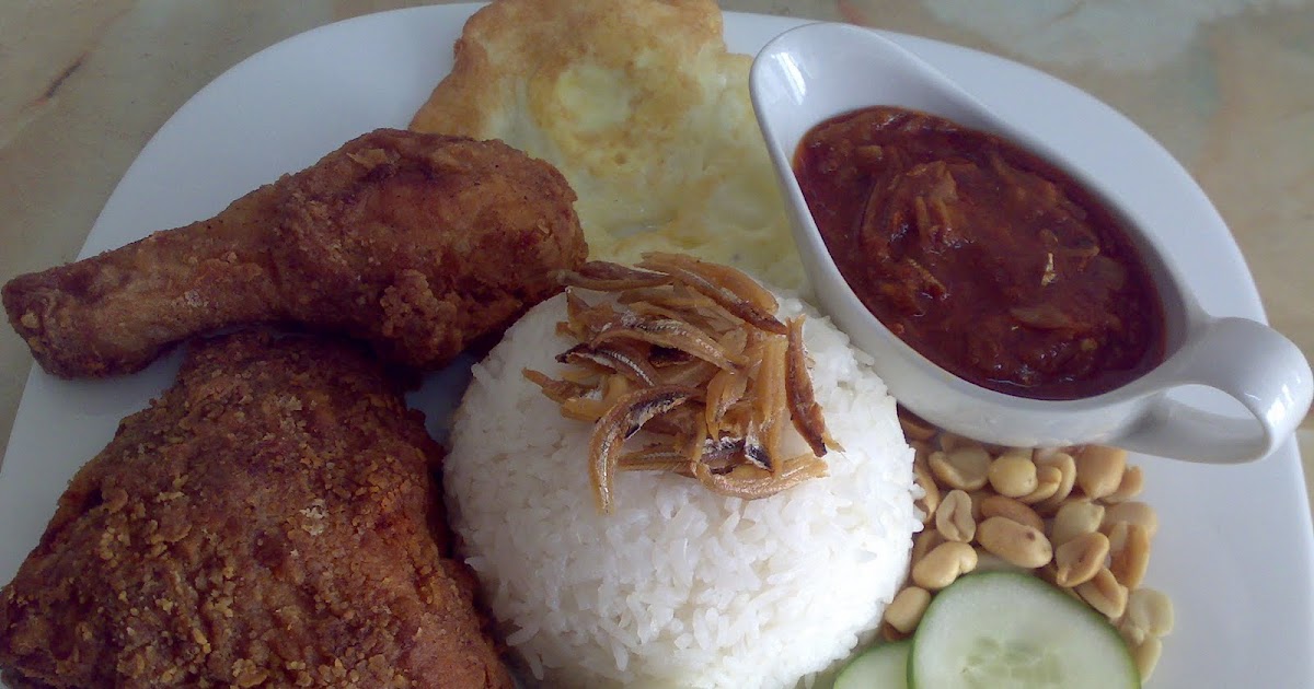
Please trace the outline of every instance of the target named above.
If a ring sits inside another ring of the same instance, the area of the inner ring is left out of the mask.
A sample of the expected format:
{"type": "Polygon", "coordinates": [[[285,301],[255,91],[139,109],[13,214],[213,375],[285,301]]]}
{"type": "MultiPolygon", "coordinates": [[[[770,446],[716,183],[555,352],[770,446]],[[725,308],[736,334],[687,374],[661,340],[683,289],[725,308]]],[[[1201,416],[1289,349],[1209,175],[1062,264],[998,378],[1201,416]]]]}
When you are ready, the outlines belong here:
{"type": "Polygon", "coordinates": [[[356,345],[198,343],[0,591],[5,681],[511,686],[442,556],[439,461],[356,345]]]}

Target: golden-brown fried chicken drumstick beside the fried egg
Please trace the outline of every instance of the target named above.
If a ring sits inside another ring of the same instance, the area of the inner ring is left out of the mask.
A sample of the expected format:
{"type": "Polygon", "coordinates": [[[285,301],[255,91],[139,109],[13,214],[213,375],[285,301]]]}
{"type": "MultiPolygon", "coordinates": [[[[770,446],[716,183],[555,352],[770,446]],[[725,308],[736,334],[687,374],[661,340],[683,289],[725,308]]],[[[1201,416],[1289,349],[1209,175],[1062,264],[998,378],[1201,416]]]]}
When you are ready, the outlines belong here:
{"type": "Polygon", "coordinates": [[[432,369],[506,328],[587,253],[576,196],[501,142],[377,130],[209,220],[4,286],[47,371],[145,367],[196,333],[297,323],[432,369]]]}

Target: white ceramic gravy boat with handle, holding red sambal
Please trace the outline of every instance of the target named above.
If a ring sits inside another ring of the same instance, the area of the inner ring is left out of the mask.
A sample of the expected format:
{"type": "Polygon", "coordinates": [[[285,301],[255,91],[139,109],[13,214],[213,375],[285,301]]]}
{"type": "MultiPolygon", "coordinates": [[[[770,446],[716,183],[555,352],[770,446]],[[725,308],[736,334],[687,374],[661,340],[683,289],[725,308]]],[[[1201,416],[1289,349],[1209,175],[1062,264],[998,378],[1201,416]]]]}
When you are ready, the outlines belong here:
{"type": "Polygon", "coordinates": [[[875,358],[891,394],[928,421],[1000,445],[1104,442],[1160,457],[1238,463],[1269,454],[1303,419],[1314,385],[1309,362],[1290,340],[1254,320],[1206,314],[1166,260],[1152,228],[1099,180],[1083,175],[1062,151],[995,115],[908,50],[858,26],[812,24],[767,43],[753,64],[750,88],[820,307],[875,358]],[[840,274],[792,171],[794,152],[808,130],[871,105],[922,110],[1000,135],[1095,192],[1125,222],[1159,289],[1167,318],[1163,364],[1109,392],[1037,400],[968,383],[890,332],[840,274]],[[1167,395],[1188,385],[1222,391],[1250,417],[1208,412],[1167,395]]]}

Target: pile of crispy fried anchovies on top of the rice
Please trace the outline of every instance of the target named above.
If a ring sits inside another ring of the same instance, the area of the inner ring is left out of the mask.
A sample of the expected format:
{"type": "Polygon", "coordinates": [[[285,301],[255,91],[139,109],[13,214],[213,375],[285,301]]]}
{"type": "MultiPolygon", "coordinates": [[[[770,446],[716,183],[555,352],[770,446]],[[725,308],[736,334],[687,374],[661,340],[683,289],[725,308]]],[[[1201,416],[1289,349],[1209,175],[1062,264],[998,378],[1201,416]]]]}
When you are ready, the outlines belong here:
{"type": "Polygon", "coordinates": [[[524,375],[562,416],[595,424],[599,511],[611,511],[616,471],[670,471],[744,499],[825,475],[821,457],[837,446],[812,394],[803,318],[781,323],[753,278],[646,253],[636,268],[590,261],[560,280],[568,320],[557,329],[578,344],[557,356],[561,378],[524,375]],[[590,304],[582,290],[606,294],[590,304]]]}

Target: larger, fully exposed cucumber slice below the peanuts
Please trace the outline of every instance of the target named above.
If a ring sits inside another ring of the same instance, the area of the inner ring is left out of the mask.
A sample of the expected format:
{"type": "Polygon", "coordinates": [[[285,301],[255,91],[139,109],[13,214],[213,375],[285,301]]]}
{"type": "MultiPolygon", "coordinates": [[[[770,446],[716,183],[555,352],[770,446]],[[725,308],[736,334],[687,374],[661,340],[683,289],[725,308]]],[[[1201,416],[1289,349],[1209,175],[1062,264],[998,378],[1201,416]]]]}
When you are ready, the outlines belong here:
{"type": "Polygon", "coordinates": [[[974,574],[930,601],[912,639],[918,689],[1141,686],[1109,621],[1030,575],[974,574]]]}

